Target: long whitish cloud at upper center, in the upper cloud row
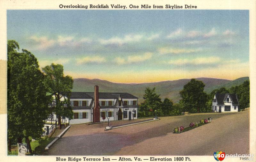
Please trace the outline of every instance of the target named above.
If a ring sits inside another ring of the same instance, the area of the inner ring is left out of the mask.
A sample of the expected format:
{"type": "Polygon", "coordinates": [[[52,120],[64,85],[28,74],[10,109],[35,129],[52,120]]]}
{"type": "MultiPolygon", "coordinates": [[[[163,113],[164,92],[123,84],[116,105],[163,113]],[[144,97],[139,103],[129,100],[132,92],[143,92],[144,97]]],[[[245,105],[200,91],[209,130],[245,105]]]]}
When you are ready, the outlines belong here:
{"type": "Polygon", "coordinates": [[[142,39],[142,35],[140,34],[128,34],[125,35],[123,38],[120,37],[112,37],[110,39],[99,39],[100,44],[103,45],[111,45],[111,44],[117,44],[119,46],[122,46],[126,43],[130,43],[130,42],[138,42],[142,39]]]}

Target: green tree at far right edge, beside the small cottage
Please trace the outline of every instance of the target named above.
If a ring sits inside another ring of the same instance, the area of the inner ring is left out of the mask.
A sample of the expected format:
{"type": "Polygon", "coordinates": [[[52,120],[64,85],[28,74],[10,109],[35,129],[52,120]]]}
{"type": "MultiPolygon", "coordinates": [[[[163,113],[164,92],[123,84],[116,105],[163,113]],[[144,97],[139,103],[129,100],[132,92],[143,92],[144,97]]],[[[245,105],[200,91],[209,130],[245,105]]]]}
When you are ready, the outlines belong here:
{"type": "Polygon", "coordinates": [[[250,107],[250,81],[246,80],[243,84],[230,88],[230,93],[235,93],[238,98],[240,109],[250,107]]]}

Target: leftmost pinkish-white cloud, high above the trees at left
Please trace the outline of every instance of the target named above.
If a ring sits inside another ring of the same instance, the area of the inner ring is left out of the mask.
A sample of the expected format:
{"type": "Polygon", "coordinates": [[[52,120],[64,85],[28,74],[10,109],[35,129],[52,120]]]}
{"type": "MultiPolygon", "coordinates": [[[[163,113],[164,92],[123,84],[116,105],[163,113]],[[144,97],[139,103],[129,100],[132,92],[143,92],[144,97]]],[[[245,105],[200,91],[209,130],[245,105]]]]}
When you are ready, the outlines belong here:
{"type": "Polygon", "coordinates": [[[48,39],[47,37],[43,36],[43,37],[38,37],[38,36],[31,36],[29,37],[30,40],[34,41],[34,43],[36,44],[36,48],[39,50],[43,50],[43,49],[47,49],[49,47],[52,47],[56,41],[52,40],[52,39],[48,39]]]}

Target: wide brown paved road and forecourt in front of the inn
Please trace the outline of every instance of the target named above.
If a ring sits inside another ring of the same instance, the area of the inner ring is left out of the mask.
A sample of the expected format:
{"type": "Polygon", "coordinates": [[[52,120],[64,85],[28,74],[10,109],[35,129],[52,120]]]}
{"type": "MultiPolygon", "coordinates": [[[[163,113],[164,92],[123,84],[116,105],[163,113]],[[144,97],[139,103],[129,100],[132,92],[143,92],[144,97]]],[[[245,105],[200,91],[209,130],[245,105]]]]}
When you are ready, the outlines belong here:
{"type": "MultiPolygon", "coordinates": [[[[104,131],[107,123],[72,125],[47,155],[212,155],[249,153],[249,110],[161,117],[161,120],[104,131]],[[212,118],[180,134],[175,127],[212,118]]],[[[142,119],[140,119],[142,120],[142,119]]],[[[138,120],[136,120],[137,122],[138,120]]],[[[128,121],[112,122],[111,125],[128,121]]]]}

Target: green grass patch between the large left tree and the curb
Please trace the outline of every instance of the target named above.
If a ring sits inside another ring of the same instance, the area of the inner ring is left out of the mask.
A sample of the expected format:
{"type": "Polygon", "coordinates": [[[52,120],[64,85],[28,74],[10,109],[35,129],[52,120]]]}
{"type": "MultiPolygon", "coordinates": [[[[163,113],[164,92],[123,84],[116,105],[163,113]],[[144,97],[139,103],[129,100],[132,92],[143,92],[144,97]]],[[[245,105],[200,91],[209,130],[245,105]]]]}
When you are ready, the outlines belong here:
{"type": "Polygon", "coordinates": [[[44,136],[42,139],[40,140],[36,140],[30,143],[31,145],[31,149],[33,151],[33,154],[35,155],[44,155],[44,148],[51,143],[54,140],[53,137],[47,137],[44,136]]]}

